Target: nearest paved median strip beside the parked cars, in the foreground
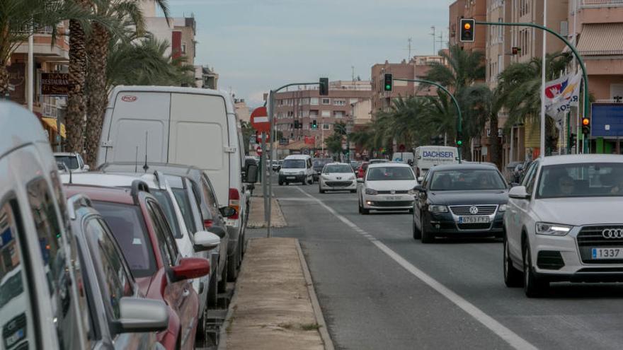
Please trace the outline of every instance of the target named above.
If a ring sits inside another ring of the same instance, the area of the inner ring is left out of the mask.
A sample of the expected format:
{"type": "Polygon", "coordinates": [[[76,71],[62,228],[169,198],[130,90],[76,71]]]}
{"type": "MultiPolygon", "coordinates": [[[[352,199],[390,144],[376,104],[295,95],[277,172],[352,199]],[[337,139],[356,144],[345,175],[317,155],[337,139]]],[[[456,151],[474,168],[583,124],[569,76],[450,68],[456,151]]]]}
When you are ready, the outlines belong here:
{"type": "Polygon", "coordinates": [[[333,350],[298,240],[248,241],[219,349],[333,350]]]}

